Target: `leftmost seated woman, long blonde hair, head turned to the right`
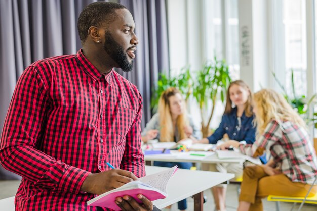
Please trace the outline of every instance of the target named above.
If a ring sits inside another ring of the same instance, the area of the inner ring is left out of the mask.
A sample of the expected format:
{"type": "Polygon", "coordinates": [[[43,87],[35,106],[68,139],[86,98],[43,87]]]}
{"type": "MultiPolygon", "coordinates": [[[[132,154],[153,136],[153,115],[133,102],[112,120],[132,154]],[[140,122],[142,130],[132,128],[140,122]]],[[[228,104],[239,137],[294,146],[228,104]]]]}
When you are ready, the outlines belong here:
{"type": "MultiPolygon", "coordinates": [[[[185,101],[177,88],[165,90],[159,100],[159,113],[155,114],[142,131],[142,141],[159,139],[160,142],[178,142],[187,138],[200,138],[200,130],[186,113],[185,101]]],[[[154,161],[154,166],[190,169],[189,162],[154,161]]],[[[178,208],[187,208],[186,199],[178,202],[178,208]]]]}

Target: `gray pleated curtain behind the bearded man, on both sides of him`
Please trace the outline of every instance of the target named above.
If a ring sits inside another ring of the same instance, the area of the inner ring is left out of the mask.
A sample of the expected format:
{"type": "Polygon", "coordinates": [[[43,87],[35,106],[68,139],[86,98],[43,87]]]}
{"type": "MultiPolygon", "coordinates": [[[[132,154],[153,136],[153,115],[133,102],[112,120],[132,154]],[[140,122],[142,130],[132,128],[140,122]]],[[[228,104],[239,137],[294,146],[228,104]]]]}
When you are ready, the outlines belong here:
{"type": "MultiPolygon", "coordinates": [[[[39,59],[75,54],[81,48],[77,18],[96,0],[0,1],[0,132],[16,82],[23,70],[39,59]]],[[[139,46],[134,70],[123,73],[141,92],[142,127],[150,119],[151,87],[158,73],[169,70],[165,0],[118,1],[132,13],[139,46]]],[[[0,179],[18,176],[0,165],[0,179]]]]}

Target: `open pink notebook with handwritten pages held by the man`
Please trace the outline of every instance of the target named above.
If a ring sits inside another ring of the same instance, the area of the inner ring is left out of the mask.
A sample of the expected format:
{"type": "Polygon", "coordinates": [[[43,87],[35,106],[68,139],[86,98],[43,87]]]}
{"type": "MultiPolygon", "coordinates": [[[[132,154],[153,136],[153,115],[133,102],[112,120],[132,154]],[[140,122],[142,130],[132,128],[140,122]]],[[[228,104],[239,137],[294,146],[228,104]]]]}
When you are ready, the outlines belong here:
{"type": "Polygon", "coordinates": [[[139,180],[129,182],[119,188],[105,192],[96,198],[87,201],[87,205],[121,210],[121,208],[114,202],[116,197],[130,195],[138,202],[141,202],[137,198],[138,194],[143,194],[151,201],[166,198],[168,196],[166,191],[167,183],[177,169],[178,167],[174,166],[162,172],[151,174],[142,177],[139,180]]]}

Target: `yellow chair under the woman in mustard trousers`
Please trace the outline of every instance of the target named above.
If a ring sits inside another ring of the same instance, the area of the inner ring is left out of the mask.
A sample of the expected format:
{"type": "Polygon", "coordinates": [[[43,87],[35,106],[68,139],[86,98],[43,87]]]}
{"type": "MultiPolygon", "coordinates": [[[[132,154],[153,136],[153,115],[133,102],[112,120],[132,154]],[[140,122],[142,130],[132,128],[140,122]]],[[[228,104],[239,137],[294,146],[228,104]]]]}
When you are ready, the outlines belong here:
{"type": "Polygon", "coordinates": [[[303,207],[304,203],[310,203],[310,204],[317,204],[317,194],[315,194],[314,196],[311,197],[307,197],[311,188],[313,187],[313,185],[315,184],[317,179],[317,176],[315,178],[315,180],[313,181],[311,187],[309,188],[307,194],[305,197],[288,197],[288,196],[276,196],[276,195],[269,195],[267,197],[268,201],[275,201],[276,202],[276,210],[280,210],[280,201],[282,202],[293,202],[293,206],[291,211],[293,210],[293,208],[295,207],[296,203],[301,203],[298,211],[301,210],[301,208],[303,207]]]}

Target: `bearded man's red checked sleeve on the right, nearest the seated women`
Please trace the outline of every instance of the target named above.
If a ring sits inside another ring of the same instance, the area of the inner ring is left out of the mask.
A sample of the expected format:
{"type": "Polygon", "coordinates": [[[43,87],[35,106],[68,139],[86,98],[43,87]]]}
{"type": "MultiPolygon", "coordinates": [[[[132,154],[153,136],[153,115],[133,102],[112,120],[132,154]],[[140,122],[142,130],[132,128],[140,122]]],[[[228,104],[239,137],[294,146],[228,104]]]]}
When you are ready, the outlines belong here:
{"type": "Polygon", "coordinates": [[[139,108],[135,119],[126,135],[126,147],[120,169],[134,173],[137,177],[145,176],[144,156],[141,149],[142,98],[139,94],[139,108]]]}

